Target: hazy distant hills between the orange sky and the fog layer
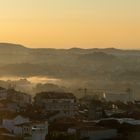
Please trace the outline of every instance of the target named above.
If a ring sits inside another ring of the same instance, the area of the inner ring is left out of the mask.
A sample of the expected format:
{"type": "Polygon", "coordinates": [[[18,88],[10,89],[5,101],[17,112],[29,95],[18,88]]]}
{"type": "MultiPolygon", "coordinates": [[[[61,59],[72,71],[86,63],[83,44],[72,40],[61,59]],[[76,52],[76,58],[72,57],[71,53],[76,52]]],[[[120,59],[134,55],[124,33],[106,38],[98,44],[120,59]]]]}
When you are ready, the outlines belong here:
{"type": "Polygon", "coordinates": [[[140,50],[27,48],[0,43],[0,76],[47,76],[76,87],[82,82],[91,88],[134,87],[139,94],[140,50]]]}

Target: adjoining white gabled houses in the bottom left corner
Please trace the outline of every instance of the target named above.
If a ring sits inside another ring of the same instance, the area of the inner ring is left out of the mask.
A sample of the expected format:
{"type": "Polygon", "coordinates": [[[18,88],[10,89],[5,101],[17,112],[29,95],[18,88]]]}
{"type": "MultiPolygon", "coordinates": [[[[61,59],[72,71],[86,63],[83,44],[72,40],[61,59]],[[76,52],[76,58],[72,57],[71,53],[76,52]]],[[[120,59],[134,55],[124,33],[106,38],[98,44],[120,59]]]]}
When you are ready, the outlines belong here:
{"type": "Polygon", "coordinates": [[[47,121],[30,121],[21,115],[3,119],[2,127],[12,135],[25,140],[45,140],[48,134],[47,121]]]}

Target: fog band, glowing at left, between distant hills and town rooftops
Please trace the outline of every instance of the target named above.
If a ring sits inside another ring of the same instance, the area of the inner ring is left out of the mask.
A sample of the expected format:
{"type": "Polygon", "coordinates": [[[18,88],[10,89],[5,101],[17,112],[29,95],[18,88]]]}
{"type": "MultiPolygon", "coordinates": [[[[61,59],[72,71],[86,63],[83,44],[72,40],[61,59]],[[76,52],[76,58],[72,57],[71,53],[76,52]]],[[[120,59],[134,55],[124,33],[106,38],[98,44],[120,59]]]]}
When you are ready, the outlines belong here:
{"type": "Polygon", "coordinates": [[[0,86],[15,88],[18,91],[26,92],[34,96],[42,91],[73,92],[77,97],[86,94],[99,94],[108,91],[122,92],[131,88],[135,98],[139,97],[140,84],[131,81],[114,82],[108,80],[84,80],[84,79],[55,79],[50,77],[0,77],[0,86]]]}

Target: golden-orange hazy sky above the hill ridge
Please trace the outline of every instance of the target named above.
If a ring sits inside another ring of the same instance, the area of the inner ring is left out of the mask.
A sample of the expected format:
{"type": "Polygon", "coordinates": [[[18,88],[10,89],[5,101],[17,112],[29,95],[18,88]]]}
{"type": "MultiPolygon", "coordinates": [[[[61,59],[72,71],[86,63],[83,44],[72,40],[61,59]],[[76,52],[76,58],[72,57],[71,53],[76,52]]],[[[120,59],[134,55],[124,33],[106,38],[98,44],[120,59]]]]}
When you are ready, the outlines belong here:
{"type": "Polygon", "coordinates": [[[140,0],[0,0],[0,42],[140,48],[140,0]]]}

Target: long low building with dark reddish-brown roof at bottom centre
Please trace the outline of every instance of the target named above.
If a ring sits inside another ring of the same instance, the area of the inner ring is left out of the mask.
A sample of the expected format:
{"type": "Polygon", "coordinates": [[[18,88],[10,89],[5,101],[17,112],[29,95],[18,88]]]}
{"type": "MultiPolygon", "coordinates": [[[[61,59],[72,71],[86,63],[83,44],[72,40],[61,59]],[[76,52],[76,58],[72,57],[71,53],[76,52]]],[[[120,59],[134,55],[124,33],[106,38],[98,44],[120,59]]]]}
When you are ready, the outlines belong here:
{"type": "Polygon", "coordinates": [[[101,127],[96,125],[93,121],[78,121],[77,119],[63,118],[61,120],[57,120],[49,127],[49,136],[51,138],[59,138],[59,136],[62,135],[73,135],[76,140],[103,140],[106,138],[116,137],[118,133],[117,129],[101,127]]]}

